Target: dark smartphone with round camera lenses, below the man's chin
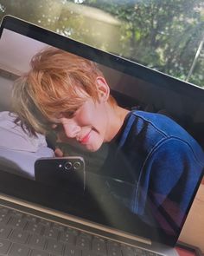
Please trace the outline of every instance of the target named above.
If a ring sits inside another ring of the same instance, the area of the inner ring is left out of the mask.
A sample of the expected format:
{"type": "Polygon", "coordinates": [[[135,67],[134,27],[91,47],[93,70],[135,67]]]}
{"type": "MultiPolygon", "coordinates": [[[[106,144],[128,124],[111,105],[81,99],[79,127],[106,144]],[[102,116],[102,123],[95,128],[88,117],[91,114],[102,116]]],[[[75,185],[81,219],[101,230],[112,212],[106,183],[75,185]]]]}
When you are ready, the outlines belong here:
{"type": "Polygon", "coordinates": [[[35,181],[77,194],[85,192],[85,161],[81,156],[40,158],[35,161],[35,181]]]}

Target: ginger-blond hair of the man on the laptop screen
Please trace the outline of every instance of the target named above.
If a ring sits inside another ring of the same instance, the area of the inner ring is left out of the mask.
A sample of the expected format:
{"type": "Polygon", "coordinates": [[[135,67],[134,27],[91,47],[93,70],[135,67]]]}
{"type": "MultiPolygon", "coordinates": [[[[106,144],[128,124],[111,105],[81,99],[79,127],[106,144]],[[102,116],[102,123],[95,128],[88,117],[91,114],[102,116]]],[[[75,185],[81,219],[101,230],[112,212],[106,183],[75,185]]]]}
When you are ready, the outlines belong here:
{"type": "MultiPolygon", "coordinates": [[[[36,54],[30,65],[12,90],[16,122],[29,133],[45,134],[54,116],[71,115],[88,97],[99,100],[96,78],[104,75],[95,62],[49,47],[36,54]]],[[[116,104],[112,96],[109,102],[116,104]]]]}

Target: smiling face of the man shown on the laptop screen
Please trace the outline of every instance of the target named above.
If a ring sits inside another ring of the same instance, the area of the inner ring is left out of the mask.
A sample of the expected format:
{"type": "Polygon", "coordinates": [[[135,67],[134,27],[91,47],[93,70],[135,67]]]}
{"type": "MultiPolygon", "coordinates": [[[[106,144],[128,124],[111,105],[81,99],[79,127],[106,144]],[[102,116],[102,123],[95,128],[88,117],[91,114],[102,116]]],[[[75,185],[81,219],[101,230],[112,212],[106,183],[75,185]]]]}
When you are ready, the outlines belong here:
{"type": "Polygon", "coordinates": [[[61,114],[54,128],[59,127],[58,141],[79,143],[82,148],[97,151],[103,142],[109,141],[110,120],[107,102],[86,102],[72,115],[61,114]]]}

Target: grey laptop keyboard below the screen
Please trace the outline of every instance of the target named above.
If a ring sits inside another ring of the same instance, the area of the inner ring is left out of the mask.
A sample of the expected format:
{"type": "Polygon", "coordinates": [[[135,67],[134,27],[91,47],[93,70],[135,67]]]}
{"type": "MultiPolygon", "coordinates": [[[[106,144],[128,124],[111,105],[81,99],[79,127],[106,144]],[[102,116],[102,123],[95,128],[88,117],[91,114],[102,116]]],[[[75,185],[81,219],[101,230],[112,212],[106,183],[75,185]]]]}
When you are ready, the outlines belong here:
{"type": "MultiPolygon", "coordinates": [[[[73,227],[0,207],[0,255],[160,256],[73,227]]],[[[161,255],[162,256],[162,255],[161,255]]]]}

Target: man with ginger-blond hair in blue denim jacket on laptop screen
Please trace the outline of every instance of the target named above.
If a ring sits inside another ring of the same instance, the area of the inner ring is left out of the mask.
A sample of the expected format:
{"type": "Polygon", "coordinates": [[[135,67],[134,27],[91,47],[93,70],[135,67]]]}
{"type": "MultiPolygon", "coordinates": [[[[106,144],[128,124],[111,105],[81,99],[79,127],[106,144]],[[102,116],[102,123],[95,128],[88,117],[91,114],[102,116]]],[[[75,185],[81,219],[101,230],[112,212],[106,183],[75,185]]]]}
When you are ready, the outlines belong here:
{"type": "Polygon", "coordinates": [[[175,121],[119,107],[95,63],[54,48],[34,56],[12,101],[30,134],[54,130],[59,141],[90,152],[107,143],[104,174],[130,184],[121,194],[110,182],[110,194],[143,221],[153,215],[168,233],[180,228],[204,154],[175,121]]]}

